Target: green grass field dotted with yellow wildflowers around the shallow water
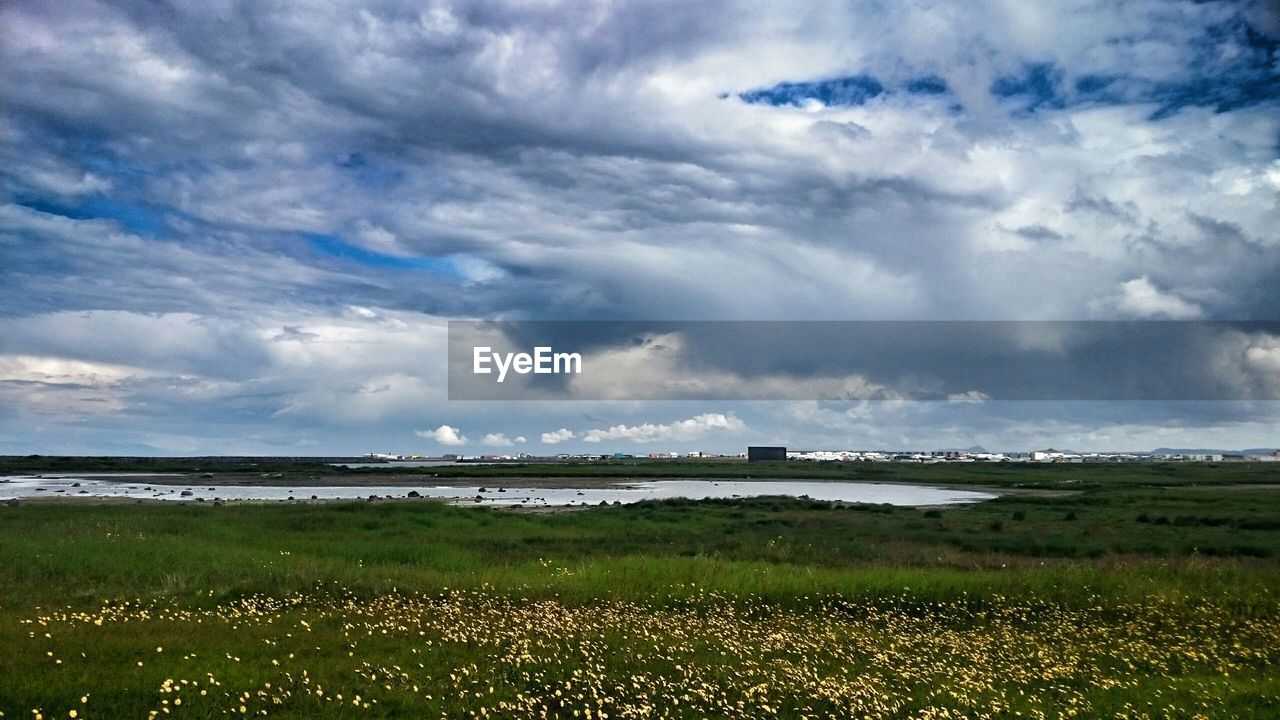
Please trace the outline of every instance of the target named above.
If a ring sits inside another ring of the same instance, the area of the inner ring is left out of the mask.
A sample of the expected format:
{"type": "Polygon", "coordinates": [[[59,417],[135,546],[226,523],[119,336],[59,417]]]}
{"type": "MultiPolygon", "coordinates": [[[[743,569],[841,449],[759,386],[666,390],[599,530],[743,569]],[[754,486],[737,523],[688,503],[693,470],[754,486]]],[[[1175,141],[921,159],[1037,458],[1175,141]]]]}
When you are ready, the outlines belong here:
{"type": "MultiPolygon", "coordinates": [[[[545,473],[645,465],[576,468],[545,473]]],[[[750,471],[782,469],[797,470],[750,471]]],[[[1041,492],[955,509],[0,507],[0,711],[1277,716],[1280,468],[799,470],[1041,492]]]]}

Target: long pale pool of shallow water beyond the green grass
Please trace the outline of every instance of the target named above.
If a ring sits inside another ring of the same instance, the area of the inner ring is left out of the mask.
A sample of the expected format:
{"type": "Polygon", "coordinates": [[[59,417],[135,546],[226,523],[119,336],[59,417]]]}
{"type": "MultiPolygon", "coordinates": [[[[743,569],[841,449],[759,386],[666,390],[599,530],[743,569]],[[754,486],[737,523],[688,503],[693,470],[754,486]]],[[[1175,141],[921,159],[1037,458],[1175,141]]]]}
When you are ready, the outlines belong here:
{"type": "MultiPolygon", "coordinates": [[[[154,477],[154,475],[152,475],[154,477]]],[[[173,486],[148,484],[127,475],[119,479],[74,475],[23,475],[0,479],[0,501],[29,497],[125,497],[138,500],[360,500],[403,498],[410,492],[421,497],[468,505],[568,506],[600,502],[636,502],[664,498],[732,498],[758,496],[809,497],[841,502],[887,505],[954,505],[992,500],[987,492],[927,486],[879,483],[822,483],[812,480],[652,480],[607,488],[485,488],[483,486],[361,486],[361,487],[273,487],[273,486],[173,486]],[[476,500],[476,498],[480,500],[476,500]]]]}

